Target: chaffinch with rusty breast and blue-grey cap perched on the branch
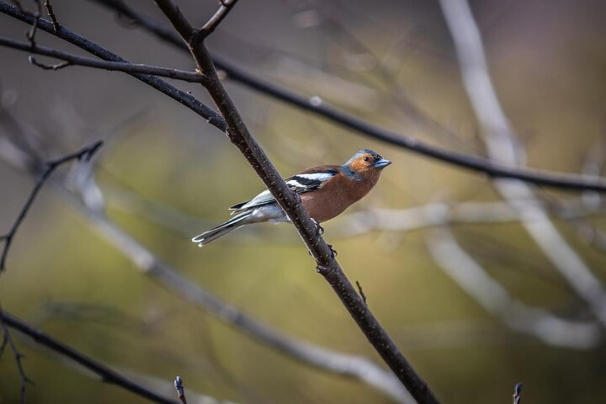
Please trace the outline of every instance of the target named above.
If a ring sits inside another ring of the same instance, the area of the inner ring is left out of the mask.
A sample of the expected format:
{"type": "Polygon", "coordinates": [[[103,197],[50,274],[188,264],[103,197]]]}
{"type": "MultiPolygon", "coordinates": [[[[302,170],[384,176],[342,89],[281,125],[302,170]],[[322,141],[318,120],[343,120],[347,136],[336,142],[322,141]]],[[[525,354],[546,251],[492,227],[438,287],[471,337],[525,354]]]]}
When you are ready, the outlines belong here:
{"type": "MultiPolygon", "coordinates": [[[[362,149],[343,165],[306,168],[301,173],[288,177],[285,182],[301,196],[305,210],[319,227],[321,222],[332,219],[362,199],[379,180],[381,170],[390,164],[389,160],[375,151],[362,149]]],[[[247,202],[233,205],[230,210],[236,216],[193,237],[191,241],[202,247],[244,225],[289,221],[269,190],[247,202]]]]}

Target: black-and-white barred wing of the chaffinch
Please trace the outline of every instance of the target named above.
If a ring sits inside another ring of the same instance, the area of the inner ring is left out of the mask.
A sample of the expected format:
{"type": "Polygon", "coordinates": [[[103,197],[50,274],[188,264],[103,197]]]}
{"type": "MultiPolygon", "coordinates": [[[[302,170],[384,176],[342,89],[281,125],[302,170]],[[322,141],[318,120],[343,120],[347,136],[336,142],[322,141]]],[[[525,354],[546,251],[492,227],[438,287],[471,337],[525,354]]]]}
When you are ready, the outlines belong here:
{"type": "MultiPolygon", "coordinates": [[[[317,190],[322,184],[339,173],[338,165],[319,165],[317,167],[307,168],[299,174],[288,177],[284,181],[288,187],[292,188],[298,194],[317,190]]],[[[275,202],[275,198],[269,190],[265,190],[251,200],[236,204],[230,207],[233,211],[242,211],[255,208],[265,204],[275,202]]]]}

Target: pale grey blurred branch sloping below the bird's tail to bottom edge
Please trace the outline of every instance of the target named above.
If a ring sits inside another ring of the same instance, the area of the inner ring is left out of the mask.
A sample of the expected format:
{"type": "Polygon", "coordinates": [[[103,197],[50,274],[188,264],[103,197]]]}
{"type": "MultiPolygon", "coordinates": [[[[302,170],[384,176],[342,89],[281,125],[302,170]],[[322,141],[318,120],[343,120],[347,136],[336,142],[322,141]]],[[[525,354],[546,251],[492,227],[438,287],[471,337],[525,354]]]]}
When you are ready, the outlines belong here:
{"type": "MultiPolygon", "coordinates": [[[[15,130],[18,130],[18,128],[15,130]]],[[[27,133],[23,134],[27,137],[27,133]]],[[[18,146],[15,145],[15,147],[18,146]]],[[[24,159],[32,158],[28,156],[28,151],[22,151],[24,152],[22,153],[24,159]]],[[[1,153],[0,156],[4,157],[1,153]]],[[[7,163],[21,169],[30,167],[17,161],[7,161],[7,163]]],[[[52,185],[55,185],[55,187],[51,189],[57,191],[67,202],[79,208],[79,211],[86,215],[88,222],[93,225],[95,230],[108,243],[132,260],[141,273],[150,276],[182,299],[206,310],[219,320],[253,337],[253,339],[270,349],[276,349],[285,356],[325,372],[361,380],[384,392],[396,402],[410,402],[410,394],[398,379],[370,359],[339,353],[283,334],[281,331],[271,328],[224,302],[192,280],[181,276],[178,271],[162,262],[155,254],[105,215],[104,197],[102,191],[95,184],[95,179],[92,172],[90,172],[91,169],[90,164],[81,165],[81,167],[76,168],[79,171],[73,176],[76,181],[70,184],[69,188],[65,181],[62,181],[53,182],[52,185]]]]}

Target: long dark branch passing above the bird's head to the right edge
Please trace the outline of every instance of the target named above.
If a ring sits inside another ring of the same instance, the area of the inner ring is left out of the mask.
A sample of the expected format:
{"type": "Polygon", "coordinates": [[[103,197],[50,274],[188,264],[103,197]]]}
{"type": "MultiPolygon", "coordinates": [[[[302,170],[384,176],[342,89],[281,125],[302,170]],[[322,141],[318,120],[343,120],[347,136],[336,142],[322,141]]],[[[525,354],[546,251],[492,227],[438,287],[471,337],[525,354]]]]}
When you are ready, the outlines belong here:
{"type": "MultiPolygon", "coordinates": [[[[139,13],[135,8],[130,7],[122,0],[93,0],[112,10],[115,10],[122,16],[132,19],[136,24],[141,25],[146,30],[156,35],[162,41],[171,45],[189,51],[187,44],[171,31],[166,25],[153,21],[147,16],[139,13]]],[[[365,136],[380,141],[387,142],[398,147],[423,154],[424,156],[458,165],[473,171],[479,171],[489,177],[516,178],[537,185],[562,188],[568,190],[594,190],[599,192],[606,191],[606,180],[602,177],[578,176],[574,174],[551,173],[544,170],[531,170],[528,168],[513,167],[511,165],[499,164],[496,160],[486,159],[485,157],[474,156],[473,154],[459,153],[456,151],[445,150],[430,144],[425,144],[411,136],[395,133],[385,130],[368,122],[362,121],[350,114],[330,107],[319,97],[308,97],[296,93],[295,91],[273,84],[273,82],[261,79],[238,65],[221,58],[218,55],[211,56],[213,63],[222,71],[225,71],[227,78],[239,82],[253,90],[272,98],[279,99],[287,104],[301,108],[328,119],[335,124],[342,125],[351,130],[355,130],[365,136]],[[319,101],[319,102],[318,102],[319,101]]]]}

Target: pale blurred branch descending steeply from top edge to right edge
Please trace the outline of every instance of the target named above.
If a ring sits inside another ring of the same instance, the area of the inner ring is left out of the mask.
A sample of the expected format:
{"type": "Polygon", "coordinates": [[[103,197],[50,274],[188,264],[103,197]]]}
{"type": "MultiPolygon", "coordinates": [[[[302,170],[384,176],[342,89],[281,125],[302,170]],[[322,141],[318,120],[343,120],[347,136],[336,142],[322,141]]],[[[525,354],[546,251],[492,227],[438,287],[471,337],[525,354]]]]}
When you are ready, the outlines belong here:
{"type": "MultiPolygon", "coordinates": [[[[523,147],[494,91],[478,25],[466,0],[440,0],[461,67],[462,81],[482,126],[489,156],[522,165],[523,147]]],[[[534,190],[518,180],[496,180],[499,193],[519,211],[522,225],[573,290],[606,327],[606,290],[590,268],[550,222],[534,190]]]]}

